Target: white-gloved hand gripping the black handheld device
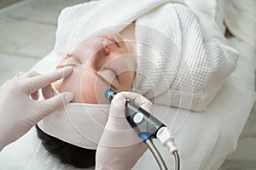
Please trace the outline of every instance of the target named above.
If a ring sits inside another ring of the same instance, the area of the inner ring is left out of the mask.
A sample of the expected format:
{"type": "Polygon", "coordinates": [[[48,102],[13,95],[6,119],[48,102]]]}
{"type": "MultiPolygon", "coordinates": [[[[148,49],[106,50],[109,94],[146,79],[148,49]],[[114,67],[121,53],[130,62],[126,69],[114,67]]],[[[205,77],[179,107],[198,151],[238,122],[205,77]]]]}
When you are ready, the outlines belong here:
{"type": "Polygon", "coordinates": [[[96,150],[96,169],[131,169],[147,150],[146,145],[126,121],[126,99],[148,112],[152,111],[152,103],[140,94],[121,92],[114,96],[108,122],[96,150]]]}

